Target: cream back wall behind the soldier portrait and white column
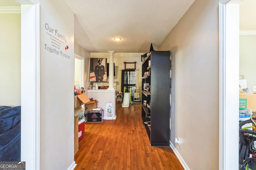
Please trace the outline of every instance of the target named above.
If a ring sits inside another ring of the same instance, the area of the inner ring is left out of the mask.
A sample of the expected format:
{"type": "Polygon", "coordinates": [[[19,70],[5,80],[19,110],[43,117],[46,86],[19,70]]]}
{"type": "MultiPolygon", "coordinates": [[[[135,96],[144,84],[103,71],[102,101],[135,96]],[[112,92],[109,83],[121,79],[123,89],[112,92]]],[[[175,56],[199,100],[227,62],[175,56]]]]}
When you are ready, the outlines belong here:
{"type": "MultiPolygon", "coordinates": [[[[124,62],[128,63],[136,63],[136,70],[137,70],[137,87],[142,86],[141,82],[141,55],[143,53],[114,53],[114,63],[115,63],[115,76],[114,81],[116,82],[116,90],[121,92],[121,84],[122,84],[122,70],[124,70],[124,62]]],[[[109,63],[109,53],[91,53],[92,58],[106,58],[107,63],[109,63]]],[[[131,68],[132,64],[127,64],[126,68],[131,68]]],[[[89,73],[88,73],[89,75],[89,73]]],[[[105,84],[104,84],[105,85],[105,84]]]]}

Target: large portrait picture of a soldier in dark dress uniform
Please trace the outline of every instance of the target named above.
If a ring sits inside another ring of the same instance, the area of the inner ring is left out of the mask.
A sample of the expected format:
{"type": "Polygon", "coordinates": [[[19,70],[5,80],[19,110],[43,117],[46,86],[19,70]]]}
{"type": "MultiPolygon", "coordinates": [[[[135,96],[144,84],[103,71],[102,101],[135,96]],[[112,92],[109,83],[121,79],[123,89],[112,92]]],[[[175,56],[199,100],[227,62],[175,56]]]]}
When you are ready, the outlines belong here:
{"type": "Polygon", "coordinates": [[[90,58],[90,82],[107,81],[107,59],[90,58]]]}

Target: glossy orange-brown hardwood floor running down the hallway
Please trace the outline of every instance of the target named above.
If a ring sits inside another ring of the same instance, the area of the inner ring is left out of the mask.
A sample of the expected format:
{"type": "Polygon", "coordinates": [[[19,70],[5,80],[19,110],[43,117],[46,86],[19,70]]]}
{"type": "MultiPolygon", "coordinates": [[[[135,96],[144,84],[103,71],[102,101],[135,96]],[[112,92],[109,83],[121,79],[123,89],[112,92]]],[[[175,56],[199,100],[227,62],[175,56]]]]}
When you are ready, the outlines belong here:
{"type": "Polygon", "coordinates": [[[75,170],[184,170],[169,146],[150,146],[141,104],[116,103],[116,116],[85,123],[75,170]]]}

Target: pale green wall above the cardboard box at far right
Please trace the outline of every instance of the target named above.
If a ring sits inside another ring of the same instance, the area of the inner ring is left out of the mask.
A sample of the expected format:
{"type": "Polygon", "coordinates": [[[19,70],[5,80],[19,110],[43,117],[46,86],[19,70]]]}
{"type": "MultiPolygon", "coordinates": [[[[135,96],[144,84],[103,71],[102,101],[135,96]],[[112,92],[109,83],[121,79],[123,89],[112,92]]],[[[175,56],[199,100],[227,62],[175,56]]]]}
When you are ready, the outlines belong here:
{"type": "Polygon", "coordinates": [[[247,88],[253,91],[256,86],[256,35],[240,35],[239,74],[247,80],[247,88]]]}

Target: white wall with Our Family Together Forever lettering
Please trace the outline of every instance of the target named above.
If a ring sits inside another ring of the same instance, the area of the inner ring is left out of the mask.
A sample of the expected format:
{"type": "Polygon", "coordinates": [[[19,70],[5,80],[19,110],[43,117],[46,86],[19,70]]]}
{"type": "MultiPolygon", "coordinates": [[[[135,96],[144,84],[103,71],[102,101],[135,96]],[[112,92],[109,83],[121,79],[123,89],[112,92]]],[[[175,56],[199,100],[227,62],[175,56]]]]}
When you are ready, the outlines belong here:
{"type": "Polygon", "coordinates": [[[63,0],[40,0],[42,170],[66,170],[74,163],[73,89],[74,13],[63,0]],[[58,37],[58,33],[63,38],[58,37]],[[48,47],[53,49],[52,53],[48,47]]]}

